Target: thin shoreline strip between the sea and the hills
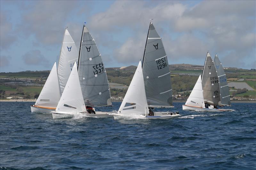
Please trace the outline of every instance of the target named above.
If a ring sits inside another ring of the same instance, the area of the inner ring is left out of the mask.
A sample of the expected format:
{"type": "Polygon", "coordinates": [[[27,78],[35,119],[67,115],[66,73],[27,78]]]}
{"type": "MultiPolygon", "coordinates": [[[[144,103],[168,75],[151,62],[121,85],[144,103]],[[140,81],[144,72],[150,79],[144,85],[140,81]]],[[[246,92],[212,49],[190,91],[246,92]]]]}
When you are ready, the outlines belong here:
{"type": "MultiPolygon", "coordinates": [[[[112,100],[112,102],[122,102],[123,100],[112,100]]],[[[1,99],[0,102],[36,102],[34,99],[1,99]]],[[[173,100],[173,103],[186,103],[186,100],[173,100]]],[[[231,103],[256,103],[256,100],[231,100],[231,103]]]]}

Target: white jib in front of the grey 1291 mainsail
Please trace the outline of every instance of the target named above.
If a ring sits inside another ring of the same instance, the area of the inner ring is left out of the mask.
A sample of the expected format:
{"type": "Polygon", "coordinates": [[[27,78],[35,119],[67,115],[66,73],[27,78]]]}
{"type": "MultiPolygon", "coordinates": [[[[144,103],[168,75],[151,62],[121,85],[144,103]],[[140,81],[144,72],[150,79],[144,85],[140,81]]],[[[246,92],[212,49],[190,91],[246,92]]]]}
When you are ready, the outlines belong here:
{"type": "Polygon", "coordinates": [[[146,98],[141,62],[139,63],[132,82],[124,96],[124,100],[118,110],[119,114],[148,114],[148,103],[146,98]]]}

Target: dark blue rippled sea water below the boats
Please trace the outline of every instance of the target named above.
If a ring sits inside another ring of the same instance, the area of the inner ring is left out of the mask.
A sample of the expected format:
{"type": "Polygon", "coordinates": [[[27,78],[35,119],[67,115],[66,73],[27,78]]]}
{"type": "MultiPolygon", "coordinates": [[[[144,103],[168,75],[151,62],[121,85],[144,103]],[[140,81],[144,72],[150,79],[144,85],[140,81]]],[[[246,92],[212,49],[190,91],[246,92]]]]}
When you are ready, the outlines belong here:
{"type": "MultiPolygon", "coordinates": [[[[1,169],[254,169],[256,104],[182,111],[171,120],[53,120],[30,102],[1,102],[1,169]]],[[[118,110],[121,103],[113,103],[118,110]]],[[[105,110],[111,108],[105,108],[105,110]]]]}

